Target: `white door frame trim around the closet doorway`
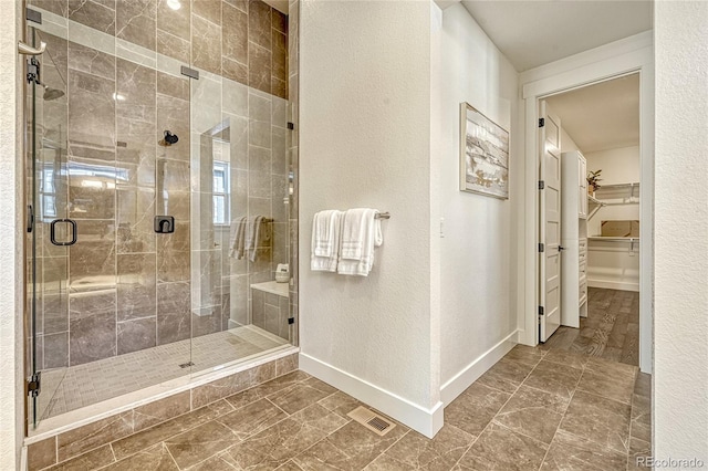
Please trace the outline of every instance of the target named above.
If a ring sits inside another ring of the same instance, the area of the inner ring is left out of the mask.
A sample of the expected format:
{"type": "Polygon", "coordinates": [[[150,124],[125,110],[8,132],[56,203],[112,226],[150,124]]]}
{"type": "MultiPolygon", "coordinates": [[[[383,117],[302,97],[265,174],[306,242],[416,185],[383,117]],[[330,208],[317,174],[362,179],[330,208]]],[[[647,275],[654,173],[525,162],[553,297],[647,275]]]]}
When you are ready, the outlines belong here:
{"type": "Polygon", "coordinates": [[[520,119],[524,129],[523,218],[524,281],[519,286],[519,343],[538,345],[538,227],[539,227],[539,100],[624,75],[639,74],[639,368],[653,369],[654,345],[654,49],[653,32],[645,31],[520,74],[523,103],[520,119]]]}

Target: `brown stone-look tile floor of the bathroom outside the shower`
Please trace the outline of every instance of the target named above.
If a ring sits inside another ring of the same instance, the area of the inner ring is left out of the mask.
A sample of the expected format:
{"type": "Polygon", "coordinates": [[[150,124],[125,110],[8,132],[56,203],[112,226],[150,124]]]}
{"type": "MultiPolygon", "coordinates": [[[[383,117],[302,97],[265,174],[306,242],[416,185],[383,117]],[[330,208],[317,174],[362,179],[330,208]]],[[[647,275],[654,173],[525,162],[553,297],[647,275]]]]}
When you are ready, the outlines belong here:
{"type": "Polygon", "coordinates": [[[649,452],[649,377],[514,347],[445,409],[435,439],[347,417],[354,398],[294,371],[52,470],[634,470],[649,452]]]}

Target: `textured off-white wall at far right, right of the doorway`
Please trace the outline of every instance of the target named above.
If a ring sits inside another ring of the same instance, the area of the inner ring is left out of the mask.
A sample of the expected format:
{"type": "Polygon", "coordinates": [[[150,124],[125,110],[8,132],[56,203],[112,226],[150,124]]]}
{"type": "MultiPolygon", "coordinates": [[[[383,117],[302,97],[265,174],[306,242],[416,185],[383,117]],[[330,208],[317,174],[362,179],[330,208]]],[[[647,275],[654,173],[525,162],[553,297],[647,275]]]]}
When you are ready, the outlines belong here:
{"type": "Polygon", "coordinates": [[[708,3],[657,1],[654,8],[653,454],[701,459],[702,468],[708,464],[708,3]]]}

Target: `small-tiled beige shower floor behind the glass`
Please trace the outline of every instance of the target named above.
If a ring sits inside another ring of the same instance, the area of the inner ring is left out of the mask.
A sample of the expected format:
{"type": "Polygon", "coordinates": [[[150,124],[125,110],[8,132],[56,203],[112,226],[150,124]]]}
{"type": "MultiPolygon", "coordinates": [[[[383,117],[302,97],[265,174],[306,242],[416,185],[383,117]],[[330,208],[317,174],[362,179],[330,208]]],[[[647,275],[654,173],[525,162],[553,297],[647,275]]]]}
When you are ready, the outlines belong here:
{"type": "Polygon", "coordinates": [[[288,344],[247,325],[84,365],[44,370],[38,416],[42,419],[59,416],[288,344]],[[180,366],[189,362],[194,366],[180,366]]]}

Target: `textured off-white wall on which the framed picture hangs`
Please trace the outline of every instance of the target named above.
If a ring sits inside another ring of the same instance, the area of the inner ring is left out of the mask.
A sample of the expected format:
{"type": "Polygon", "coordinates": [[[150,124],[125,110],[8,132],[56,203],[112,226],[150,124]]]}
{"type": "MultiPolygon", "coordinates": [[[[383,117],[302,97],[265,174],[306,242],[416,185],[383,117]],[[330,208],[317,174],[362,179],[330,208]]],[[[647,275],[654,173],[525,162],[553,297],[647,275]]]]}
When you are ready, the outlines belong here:
{"type": "MultiPolygon", "coordinates": [[[[459,104],[467,102],[510,132],[510,168],[519,172],[521,139],[516,139],[518,74],[507,57],[461,4],[442,12],[442,83],[434,91],[441,107],[438,151],[439,208],[445,218],[440,241],[441,383],[454,380],[470,364],[517,329],[516,232],[513,208],[523,180],[510,178],[507,201],[459,191],[459,104]]],[[[437,234],[436,234],[437,236],[437,234]]]]}

